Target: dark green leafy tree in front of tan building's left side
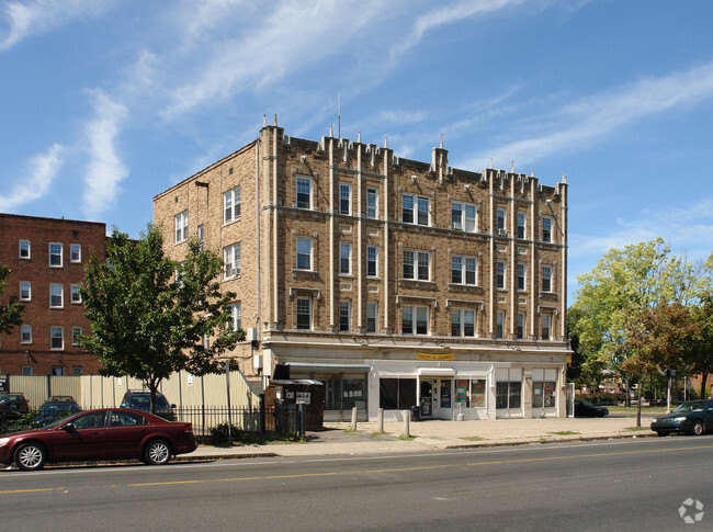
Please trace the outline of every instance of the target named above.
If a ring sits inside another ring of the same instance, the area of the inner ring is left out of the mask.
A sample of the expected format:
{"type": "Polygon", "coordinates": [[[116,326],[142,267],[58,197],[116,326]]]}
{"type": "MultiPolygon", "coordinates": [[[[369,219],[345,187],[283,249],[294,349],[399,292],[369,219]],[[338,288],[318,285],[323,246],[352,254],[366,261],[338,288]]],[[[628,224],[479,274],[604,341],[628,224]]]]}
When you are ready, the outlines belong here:
{"type": "Polygon", "coordinates": [[[235,294],[219,291],[222,267],[220,257],[197,241],[189,242],[184,262],[170,260],[152,225],[138,241],[114,228],[106,262],[90,258],[80,290],[92,329],[80,343],[99,355],[100,373],[140,378],[154,411],[163,378],[180,370],[217,371],[217,356],[245,338],[226,326],[235,294]]]}

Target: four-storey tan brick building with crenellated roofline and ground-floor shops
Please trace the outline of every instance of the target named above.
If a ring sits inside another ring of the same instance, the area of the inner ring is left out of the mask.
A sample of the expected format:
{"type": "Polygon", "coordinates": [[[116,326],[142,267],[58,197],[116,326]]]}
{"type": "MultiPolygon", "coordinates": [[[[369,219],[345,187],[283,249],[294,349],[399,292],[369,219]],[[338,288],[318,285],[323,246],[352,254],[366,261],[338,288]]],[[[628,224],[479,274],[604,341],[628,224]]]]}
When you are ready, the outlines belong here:
{"type": "MultiPolygon", "coordinates": [[[[361,135],[360,135],[361,137],[361,135]]],[[[230,356],[325,383],[325,419],[565,416],[567,184],[275,124],[154,199],[168,253],[222,253],[230,356]]]]}

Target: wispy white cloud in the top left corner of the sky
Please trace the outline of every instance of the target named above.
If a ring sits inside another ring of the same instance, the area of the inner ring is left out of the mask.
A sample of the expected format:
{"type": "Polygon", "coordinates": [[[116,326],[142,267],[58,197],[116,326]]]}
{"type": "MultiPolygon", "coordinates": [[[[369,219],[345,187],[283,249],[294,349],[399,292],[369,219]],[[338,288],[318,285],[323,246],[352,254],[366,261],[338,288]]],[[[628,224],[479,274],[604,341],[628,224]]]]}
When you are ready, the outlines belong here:
{"type": "Polygon", "coordinates": [[[0,35],[0,52],[18,44],[23,38],[45,33],[77,19],[99,16],[113,1],[102,0],[35,0],[5,3],[5,19],[9,30],[0,35]]]}

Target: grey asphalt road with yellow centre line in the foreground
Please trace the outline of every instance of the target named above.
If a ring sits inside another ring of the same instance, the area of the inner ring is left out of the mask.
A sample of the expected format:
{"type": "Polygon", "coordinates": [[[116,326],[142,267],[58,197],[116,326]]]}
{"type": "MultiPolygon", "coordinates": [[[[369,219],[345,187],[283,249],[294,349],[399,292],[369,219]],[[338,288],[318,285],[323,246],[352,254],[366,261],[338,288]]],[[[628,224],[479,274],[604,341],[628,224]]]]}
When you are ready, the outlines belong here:
{"type": "Polygon", "coordinates": [[[704,435],[5,471],[0,530],[713,530],[712,455],[704,435]]]}

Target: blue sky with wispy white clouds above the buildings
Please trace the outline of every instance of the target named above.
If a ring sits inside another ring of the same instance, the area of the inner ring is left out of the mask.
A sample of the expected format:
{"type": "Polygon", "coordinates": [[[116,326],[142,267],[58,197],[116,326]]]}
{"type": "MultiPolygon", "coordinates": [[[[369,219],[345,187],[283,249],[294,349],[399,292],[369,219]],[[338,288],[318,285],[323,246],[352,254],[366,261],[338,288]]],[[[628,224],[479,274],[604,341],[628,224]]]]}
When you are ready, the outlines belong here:
{"type": "MultiPolygon", "coordinates": [[[[116,225],[251,142],[341,134],[569,183],[569,288],[611,247],[713,250],[713,2],[0,3],[0,212],[116,225]]],[[[571,303],[571,297],[569,302],[571,303]]]]}

